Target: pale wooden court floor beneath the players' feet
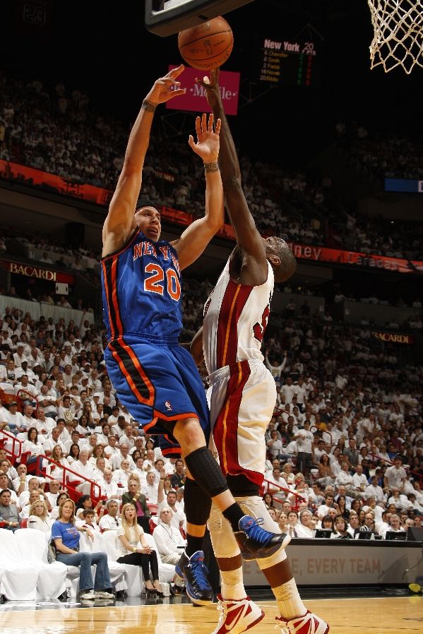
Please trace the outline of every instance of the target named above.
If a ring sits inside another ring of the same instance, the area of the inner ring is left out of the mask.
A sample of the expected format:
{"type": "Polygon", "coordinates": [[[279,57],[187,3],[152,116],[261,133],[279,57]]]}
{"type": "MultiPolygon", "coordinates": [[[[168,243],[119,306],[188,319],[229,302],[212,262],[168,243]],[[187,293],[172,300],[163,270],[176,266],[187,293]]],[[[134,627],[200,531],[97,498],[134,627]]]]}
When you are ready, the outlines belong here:
{"type": "MultiPolygon", "coordinates": [[[[321,599],[304,602],[330,623],[331,634],[423,632],[423,597],[321,599]]],[[[258,601],[266,617],[251,633],[277,634],[274,601],[258,601]]],[[[189,604],[1,611],[1,634],[210,634],[218,610],[189,604]]]]}

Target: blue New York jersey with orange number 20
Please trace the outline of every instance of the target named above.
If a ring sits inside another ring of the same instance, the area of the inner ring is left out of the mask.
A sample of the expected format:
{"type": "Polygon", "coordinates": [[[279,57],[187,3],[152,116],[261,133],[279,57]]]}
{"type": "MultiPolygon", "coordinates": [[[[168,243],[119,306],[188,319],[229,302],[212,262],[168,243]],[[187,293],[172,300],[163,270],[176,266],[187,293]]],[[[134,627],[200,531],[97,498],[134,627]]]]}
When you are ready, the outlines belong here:
{"type": "Polygon", "coordinates": [[[102,258],[102,297],[109,341],[123,335],[177,340],[182,328],[177,252],[137,229],[123,249],[102,258]]]}

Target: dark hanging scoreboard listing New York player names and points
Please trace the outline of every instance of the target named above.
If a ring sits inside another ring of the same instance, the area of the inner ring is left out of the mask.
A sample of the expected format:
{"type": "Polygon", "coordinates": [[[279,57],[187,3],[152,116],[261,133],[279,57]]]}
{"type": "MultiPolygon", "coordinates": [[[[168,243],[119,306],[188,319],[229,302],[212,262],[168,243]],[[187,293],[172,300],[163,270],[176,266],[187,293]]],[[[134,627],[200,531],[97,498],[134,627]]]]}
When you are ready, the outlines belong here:
{"type": "Polygon", "coordinates": [[[256,37],[253,78],[275,86],[315,86],[316,60],[314,42],[256,37]]]}

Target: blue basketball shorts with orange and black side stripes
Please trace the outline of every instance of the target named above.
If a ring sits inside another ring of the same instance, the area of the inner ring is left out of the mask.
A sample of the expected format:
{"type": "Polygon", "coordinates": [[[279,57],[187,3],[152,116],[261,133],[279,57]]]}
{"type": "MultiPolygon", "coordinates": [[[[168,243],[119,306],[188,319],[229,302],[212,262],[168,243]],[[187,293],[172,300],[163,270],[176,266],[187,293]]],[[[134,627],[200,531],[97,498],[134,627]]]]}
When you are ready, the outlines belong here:
{"type": "Polygon", "coordinates": [[[169,422],[198,419],[208,443],[210,418],[205,390],[188,350],[177,342],[124,335],[109,342],[105,362],[119,401],[133,419],[145,432],[165,436],[160,438],[163,455],[180,453],[177,441],[169,434],[169,422]]]}

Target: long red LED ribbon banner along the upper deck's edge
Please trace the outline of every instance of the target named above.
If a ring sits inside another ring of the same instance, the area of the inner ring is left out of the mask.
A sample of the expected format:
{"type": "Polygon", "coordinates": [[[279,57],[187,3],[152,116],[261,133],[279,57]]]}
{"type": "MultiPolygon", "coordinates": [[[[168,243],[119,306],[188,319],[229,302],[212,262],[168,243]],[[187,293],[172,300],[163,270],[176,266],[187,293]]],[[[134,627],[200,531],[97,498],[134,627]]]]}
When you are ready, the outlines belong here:
{"type": "MultiPolygon", "coordinates": [[[[157,178],[165,180],[172,178],[172,174],[167,174],[167,172],[157,172],[155,175],[157,178]]],[[[40,187],[40,189],[47,186],[49,189],[56,189],[58,193],[64,196],[73,196],[90,203],[97,203],[97,205],[102,205],[103,207],[109,205],[113,196],[113,192],[108,189],[102,189],[95,185],[77,183],[76,181],[65,179],[55,174],[41,172],[40,169],[25,167],[25,165],[18,165],[18,163],[3,160],[0,160],[0,178],[16,180],[22,185],[31,187],[37,186],[40,187]]],[[[158,205],[158,208],[162,218],[175,225],[186,227],[191,225],[191,222],[195,220],[193,215],[186,211],[173,209],[171,207],[162,207],[161,205],[158,205]]],[[[222,229],[218,232],[218,236],[232,241],[235,240],[234,229],[232,229],[231,225],[223,225],[222,229]]],[[[326,246],[312,246],[310,244],[298,244],[297,242],[289,242],[288,244],[298,260],[359,266],[361,268],[377,268],[379,270],[393,271],[394,273],[423,274],[423,262],[417,260],[357,253],[357,251],[342,251],[342,249],[328,249],[326,246]]]]}

